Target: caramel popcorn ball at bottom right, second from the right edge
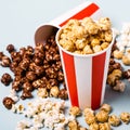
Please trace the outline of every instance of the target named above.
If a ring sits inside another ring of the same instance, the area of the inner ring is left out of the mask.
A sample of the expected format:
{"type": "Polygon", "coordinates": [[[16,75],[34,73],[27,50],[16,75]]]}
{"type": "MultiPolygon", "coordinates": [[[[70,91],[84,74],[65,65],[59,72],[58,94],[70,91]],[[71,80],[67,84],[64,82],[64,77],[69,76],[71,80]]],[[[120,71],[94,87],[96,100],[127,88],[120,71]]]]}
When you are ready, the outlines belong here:
{"type": "Polygon", "coordinates": [[[117,127],[120,125],[120,119],[116,115],[110,115],[108,117],[108,122],[109,122],[109,125],[117,127]]]}

